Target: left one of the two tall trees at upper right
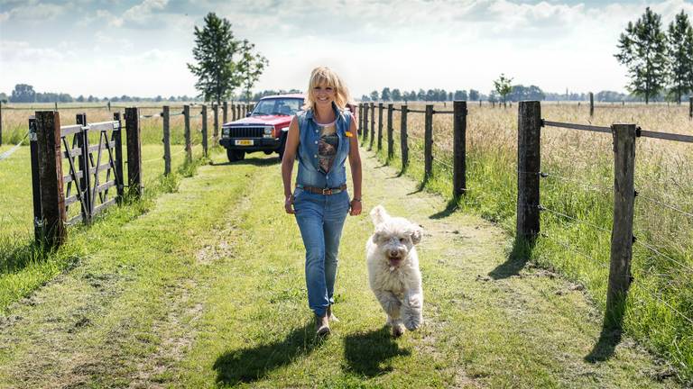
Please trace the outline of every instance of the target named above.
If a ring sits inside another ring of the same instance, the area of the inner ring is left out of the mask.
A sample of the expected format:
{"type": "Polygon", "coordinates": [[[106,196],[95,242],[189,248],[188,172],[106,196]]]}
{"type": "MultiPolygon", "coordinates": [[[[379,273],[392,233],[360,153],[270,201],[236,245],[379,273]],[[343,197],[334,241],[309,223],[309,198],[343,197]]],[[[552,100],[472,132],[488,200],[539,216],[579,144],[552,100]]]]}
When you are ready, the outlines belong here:
{"type": "Polygon", "coordinates": [[[635,24],[628,22],[621,33],[614,57],[628,68],[631,83],[627,86],[635,95],[643,95],[645,104],[656,96],[666,83],[666,36],[661,31],[661,16],[645,9],[635,24]]]}

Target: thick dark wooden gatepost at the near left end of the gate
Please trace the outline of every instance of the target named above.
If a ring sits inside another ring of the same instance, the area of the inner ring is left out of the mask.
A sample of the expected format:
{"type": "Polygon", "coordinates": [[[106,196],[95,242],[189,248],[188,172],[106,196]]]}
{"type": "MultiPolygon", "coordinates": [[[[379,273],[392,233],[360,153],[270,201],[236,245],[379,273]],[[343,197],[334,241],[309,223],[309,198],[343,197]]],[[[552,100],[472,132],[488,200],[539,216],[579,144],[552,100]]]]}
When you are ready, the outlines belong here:
{"type": "MultiPolygon", "coordinates": [[[[62,150],[60,149],[60,113],[36,113],[36,140],[39,187],[41,194],[42,230],[40,236],[50,249],[67,239],[67,213],[62,184],[62,150]]],[[[77,183],[75,183],[77,184],[77,183]]]]}

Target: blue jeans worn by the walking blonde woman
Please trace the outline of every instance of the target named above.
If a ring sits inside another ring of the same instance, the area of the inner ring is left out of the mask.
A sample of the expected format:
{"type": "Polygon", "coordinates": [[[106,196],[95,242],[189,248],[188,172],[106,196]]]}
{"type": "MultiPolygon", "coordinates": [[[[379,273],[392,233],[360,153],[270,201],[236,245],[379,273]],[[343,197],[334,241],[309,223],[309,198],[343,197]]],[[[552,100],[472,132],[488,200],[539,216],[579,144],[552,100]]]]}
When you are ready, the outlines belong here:
{"type": "Polygon", "coordinates": [[[319,316],[335,303],[337,253],[342,227],[349,211],[347,191],[316,195],[296,188],[293,209],[306,248],[308,305],[319,316]]]}

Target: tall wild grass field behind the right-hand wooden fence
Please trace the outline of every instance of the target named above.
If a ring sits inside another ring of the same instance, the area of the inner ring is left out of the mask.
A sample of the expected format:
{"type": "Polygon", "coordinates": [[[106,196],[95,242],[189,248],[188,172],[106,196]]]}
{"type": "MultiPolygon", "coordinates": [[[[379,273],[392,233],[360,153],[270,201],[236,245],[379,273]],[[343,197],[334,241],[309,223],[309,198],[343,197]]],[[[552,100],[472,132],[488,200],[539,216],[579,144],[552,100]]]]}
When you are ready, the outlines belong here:
{"type": "MultiPolygon", "coordinates": [[[[421,109],[422,106],[413,106],[421,109]]],[[[437,106],[437,109],[442,109],[437,106]]],[[[447,109],[451,109],[448,105],[447,109]]],[[[467,196],[457,206],[498,222],[514,233],[516,200],[517,107],[468,106],[467,196]]],[[[589,118],[582,104],[542,104],[542,118],[608,126],[631,122],[643,130],[693,134],[688,107],[597,107],[589,118]]],[[[423,115],[410,113],[409,176],[423,176],[423,115]]],[[[400,166],[400,117],[394,115],[395,158],[400,166]]],[[[376,124],[377,125],[377,124],[376,124]]],[[[452,119],[433,123],[434,176],[426,184],[452,192],[452,119]]],[[[376,142],[374,143],[376,144],[376,142]]],[[[383,145],[386,142],[383,141],[383,145]]],[[[383,146],[384,147],[384,146],[383,146]]],[[[542,130],[541,239],[531,258],[587,287],[605,307],[613,213],[613,151],[608,134],[542,130]],[[579,221],[577,222],[576,219],[579,221]]],[[[380,158],[385,159],[384,152],[380,158]]],[[[693,147],[638,139],[636,149],[633,276],[624,328],[670,361],[672,374],[693,379],[693,147]],[[676,210],[672,209],[674,206],[676,210]],[[683,213],[679,212],[683,211],[683,213]]],[[[522,267],[522,264],[517,266],[522,267]]]]}

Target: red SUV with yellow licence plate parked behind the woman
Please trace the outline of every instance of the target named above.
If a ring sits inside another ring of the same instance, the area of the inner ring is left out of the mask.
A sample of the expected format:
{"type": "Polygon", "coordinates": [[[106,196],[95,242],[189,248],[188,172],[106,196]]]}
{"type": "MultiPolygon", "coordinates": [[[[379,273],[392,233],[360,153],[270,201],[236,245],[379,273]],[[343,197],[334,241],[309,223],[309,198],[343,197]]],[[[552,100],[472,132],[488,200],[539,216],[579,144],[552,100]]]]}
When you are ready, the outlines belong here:
{"type": "Polygon", "coordinates": [[[229,162],[245,158],[245,153],[273,152],[282,159],[291,117],[300,111],[304,95],[271,95],[260,99],[244,119],[224,123],[219,143],[226,148],[229,162]]]}

